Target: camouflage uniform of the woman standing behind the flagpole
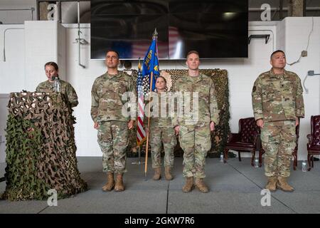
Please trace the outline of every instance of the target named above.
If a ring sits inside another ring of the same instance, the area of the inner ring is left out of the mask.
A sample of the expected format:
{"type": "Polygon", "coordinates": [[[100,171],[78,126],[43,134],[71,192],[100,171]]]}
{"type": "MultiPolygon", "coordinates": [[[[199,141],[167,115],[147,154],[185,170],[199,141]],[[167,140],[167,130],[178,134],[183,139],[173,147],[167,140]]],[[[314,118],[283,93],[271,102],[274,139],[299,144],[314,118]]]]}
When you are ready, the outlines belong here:
{"type": "MultiPolygon", "coordinates": [[[[157,109],[152,108],[153,112],[150,115],[150,145],[151,145],[151,159],[152,167],[161,167],[161,149],[162,142],[164,143],[164,166],[174,167],[174,147],[176,146],[176,135],[171,123],[171,117],[169,115],[169,96],[168,93],[159,93],[153,95],[153,99],[157,99],[154,103],[158,106],[157,109]],[[164,107],[164,113],[161,111],[161,101],[166,99],[166,107],[164,107]],[[157,112],[156,112],[157,111],[157,112]],[[156,112],[156,113],[155,113],[156,112]]],[[[147,109],[148,106],[146,106],[147,109]]],[[[147,110],[145,111],[145,113],[147,110]]],[[[144,125],[146,126],[146,120],[144,118],[144,125]]]]}

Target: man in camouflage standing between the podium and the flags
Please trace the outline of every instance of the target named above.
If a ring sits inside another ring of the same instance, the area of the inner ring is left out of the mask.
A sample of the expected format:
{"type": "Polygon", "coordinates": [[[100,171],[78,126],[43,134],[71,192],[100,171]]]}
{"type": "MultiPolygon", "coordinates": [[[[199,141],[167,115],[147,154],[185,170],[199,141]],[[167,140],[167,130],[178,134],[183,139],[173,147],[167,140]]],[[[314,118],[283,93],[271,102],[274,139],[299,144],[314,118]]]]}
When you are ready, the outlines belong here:
{"type": "Polygon", "coordinates": [[[126,170],[126,149],[129,143],[129,131],[133,128],[135,115],[124,115],[123,107],[127,98],[122,95],[130,92],[130,102],[136,102],[136,90],[132,78],[118,71],[119,54],[107,51],[105,64],[107,73],[95,79],[91,96],[91,117],[94,128],[98,130],[97,142],[102,150],[103,171],[107,172],[107,184],[103,191],[123,191],[122,176],[126,170]],[[114,173],[116,178],[114,181],[114,173]]]}

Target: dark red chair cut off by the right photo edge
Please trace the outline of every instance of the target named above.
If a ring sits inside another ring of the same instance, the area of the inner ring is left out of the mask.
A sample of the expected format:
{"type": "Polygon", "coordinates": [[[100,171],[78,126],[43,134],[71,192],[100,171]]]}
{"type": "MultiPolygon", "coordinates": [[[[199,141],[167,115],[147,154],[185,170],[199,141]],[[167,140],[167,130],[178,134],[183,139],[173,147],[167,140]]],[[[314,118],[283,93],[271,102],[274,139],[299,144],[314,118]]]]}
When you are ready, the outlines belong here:
{"type": "Polygon", "coordinates": [[[306,144],[308,150],[308,164],[309,169],[314,167],[314,155],[320,155],[320,115],[311,116],[311,134],[306,135],[309,142],[306,144]]]}

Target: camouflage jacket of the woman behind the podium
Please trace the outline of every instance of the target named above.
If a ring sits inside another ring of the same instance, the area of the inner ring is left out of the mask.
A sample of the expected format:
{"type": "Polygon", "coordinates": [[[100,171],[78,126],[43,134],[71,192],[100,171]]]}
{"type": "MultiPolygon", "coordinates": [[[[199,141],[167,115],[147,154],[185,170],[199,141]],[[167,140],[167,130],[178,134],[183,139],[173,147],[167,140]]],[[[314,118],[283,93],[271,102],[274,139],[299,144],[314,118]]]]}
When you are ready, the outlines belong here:
{"type": "MultiPolygon", "coordinates": [[[[61,88],[60,88],[60,93],[65,95],[65,97],[68,99],[68,102],[70,103],[71,108],[75,107],[78,105],[78,95],[75,93],[75,89],[73,86],[70,85],[70,83],[67,83],[66,81],[59,80],[61,83],[61,88]]],[[[50,83],[50,81],[43,81],[40,83],[37,88],[36,92],[41,93],[41,92],[46,92],[46,93],[53,93],[54,88],[53,88],[53,83],[50,83]]]]}

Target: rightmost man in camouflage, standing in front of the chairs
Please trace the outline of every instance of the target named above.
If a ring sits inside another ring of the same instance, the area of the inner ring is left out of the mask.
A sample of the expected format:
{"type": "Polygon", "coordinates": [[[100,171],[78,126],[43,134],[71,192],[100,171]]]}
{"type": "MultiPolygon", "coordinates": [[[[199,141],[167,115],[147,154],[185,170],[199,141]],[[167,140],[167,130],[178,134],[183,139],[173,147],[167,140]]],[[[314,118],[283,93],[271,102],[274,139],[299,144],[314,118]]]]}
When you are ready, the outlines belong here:
{"type": "Polygon", "coordinates": [[[284,70],[283,51],[274,51],[270,63],[271,70],[262,73],[252,88],[252,107],[266,152],[266,188],[292,192],[294,188],[287,183],[287,177],[297,140],[295,128],[299,118],[304,118],[303,90],[299,76],[284,70]]]}

